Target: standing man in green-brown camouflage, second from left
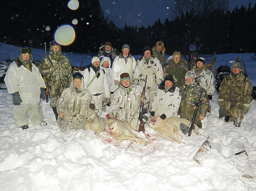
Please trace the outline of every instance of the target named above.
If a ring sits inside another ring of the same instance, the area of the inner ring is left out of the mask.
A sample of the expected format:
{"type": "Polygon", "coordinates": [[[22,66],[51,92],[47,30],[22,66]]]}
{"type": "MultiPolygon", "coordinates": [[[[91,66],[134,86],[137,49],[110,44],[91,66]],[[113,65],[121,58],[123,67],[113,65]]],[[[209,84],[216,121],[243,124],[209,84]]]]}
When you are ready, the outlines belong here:
{"type": "Polygon", "coordinates": [[[72,82],[72,65],[68,58],[61,53],[61,47],[56,41],[50,42],[50,55],[43,58],[39,71],[46,77],[46,87],[49,87],[50,106],[58,119],[57,101],[61,93],[72,82]]]}

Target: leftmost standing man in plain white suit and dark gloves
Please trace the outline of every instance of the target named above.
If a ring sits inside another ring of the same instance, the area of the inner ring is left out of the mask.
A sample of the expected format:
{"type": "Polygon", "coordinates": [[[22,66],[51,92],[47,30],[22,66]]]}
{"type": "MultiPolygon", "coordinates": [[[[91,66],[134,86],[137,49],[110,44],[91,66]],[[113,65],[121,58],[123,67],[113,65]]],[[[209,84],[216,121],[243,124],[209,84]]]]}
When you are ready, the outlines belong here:
{"type": "Polygon", "coordinates": [[[29,128],[27,114],[35,124],[46,125],[43,121],[43,110],[40,98],[45,100],[45,83],[41,74],[34,65],[30,48],[21,48],[19,57],[14,59],[5,76],[8,93],[12,94],[13,121],[17,127],[29,128]]]}

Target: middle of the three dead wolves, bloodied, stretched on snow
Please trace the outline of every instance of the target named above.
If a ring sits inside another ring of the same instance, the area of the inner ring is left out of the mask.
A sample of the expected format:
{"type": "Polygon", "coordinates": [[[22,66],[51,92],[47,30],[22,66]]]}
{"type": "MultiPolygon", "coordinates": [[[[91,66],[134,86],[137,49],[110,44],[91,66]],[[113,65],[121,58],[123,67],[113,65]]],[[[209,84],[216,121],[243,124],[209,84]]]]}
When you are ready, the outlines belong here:
{"type": "Polygon", "coordinates": [[[109,118],[106,121],[105,127],[107,134],[115,139],[128,140],[130,142],[147,145],[148,142],[132,132],[130,124],[126,121],[117,120],[116,118],[109,118]]]}

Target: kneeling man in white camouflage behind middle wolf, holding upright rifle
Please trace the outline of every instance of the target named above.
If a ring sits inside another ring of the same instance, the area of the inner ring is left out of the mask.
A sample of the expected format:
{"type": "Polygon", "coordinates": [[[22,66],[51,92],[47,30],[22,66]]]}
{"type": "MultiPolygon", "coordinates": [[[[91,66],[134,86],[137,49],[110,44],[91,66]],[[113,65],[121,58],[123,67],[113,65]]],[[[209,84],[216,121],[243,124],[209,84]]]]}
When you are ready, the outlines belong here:
{"type": "Polygon", "coordinates": [[[110,105],[110,112],[106,117],[117,117],[118,120],[130,123],[134,130],[139,129],[139,114],[141,101],[149,101],[148,92],[141,96],[143,88],[135,85],[128,73],[120,75],[118,88],[114,92],[113,101],[110,105]]]}

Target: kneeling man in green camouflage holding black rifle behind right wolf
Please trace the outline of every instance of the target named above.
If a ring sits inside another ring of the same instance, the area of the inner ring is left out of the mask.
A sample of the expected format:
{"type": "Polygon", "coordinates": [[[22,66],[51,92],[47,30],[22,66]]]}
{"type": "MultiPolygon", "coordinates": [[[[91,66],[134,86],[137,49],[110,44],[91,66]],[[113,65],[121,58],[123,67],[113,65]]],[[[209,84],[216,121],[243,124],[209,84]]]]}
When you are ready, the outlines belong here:
{"type": "Polygon", "coordinates": [[[191,121],[195,113],[196,106],[198,112],[195,124],[202,128],[202,120],[206,116],[210,105],[207,93],[203,87],[197,85],[195,73],[188,71],[185,75],[185,85],[182,90],[181,105],[179,106],[181,118],[191,121]],[[202,94],[202,96],[201,96],[202,94]],[[200,100],[199,100],[200,98],[200,100]]]}

